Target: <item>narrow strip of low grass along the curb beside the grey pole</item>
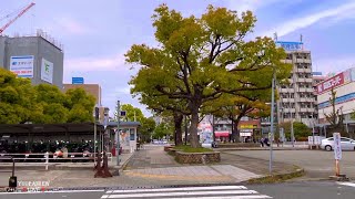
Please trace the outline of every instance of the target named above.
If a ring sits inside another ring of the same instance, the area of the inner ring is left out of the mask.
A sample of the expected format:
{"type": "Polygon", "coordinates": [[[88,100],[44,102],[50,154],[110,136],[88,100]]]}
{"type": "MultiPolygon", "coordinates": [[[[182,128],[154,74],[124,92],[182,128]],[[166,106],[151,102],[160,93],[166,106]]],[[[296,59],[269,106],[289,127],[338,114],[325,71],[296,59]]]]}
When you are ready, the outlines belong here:
{"type": "Polygon", "coordinates": [[[283,182],[292,178],[302,177],[303,175],[304,175],[304,170],[300,169],[291,174],[272,175],[272,176],[265,176],[262,178],[250,179],[247,180],[247,184],[276,184],[276,182],[283,182]]]}

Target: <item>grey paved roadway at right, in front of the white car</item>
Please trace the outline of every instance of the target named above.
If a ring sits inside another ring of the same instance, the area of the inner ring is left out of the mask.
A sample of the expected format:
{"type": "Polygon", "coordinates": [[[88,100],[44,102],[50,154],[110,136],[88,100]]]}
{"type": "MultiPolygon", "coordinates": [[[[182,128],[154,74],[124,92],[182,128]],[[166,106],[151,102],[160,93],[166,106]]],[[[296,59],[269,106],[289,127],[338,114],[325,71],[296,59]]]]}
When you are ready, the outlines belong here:
{"type": "MultiPolygon", "coordinates": [[[[233,150],[227,154],[260,158],[268,161],[268,150],[233,150]]],[[[305,169],[310,178],[328,178],[334,175],[334,153],[324,150],[274,150],[274,160],[305,169]]],[[[343,151],[341,172],[355,179],[355,151],[343,151]]]]}

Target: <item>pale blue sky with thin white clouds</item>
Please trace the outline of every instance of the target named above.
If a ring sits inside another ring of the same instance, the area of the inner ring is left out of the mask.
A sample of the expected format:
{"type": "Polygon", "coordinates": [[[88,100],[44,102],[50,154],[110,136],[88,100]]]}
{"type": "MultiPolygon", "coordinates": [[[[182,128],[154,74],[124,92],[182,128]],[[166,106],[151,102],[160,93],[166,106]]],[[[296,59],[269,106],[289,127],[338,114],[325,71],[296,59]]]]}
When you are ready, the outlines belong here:
{"type": "MultiPolygon", "coordinates": [[[[112,111],[118,100],[141,107],[130,95],[128,81],[135,71],[123,54],[134,43],[154,42],[151,15],[159,4],[184,15],[202,14],[207,4],[252,10],[255,35],[277,32],[278,40],[298,41],[312,51],[313,70],[324,74],[355,66],[355,0],[32,0],[28,13],[4,32],[34,33],[42,29],[64,45],[64,83],[83,76],[102,87],[102,103],[112,111]]],[[[0,0],[0,19],[31,0],[0,0]]],[[[4,24],[0,21],[0,25],[4,24]]]]}

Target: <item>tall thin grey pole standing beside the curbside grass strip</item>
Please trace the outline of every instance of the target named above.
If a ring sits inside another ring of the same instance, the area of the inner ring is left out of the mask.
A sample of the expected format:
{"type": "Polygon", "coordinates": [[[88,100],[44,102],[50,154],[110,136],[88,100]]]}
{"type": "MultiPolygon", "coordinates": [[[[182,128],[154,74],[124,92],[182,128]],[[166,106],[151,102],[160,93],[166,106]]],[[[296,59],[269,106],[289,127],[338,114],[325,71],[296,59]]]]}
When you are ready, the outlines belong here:
{"type": "Polygon", "coordinates": [[[275,69],[273,69],[272,80],[272,94],[271,94],[271,136],[270,136],[270,160],[268,160],[268,172],[273,171],[273,139],[274,139],[274,109],[275,109],[275,81],[276,81],[275,69]]]}

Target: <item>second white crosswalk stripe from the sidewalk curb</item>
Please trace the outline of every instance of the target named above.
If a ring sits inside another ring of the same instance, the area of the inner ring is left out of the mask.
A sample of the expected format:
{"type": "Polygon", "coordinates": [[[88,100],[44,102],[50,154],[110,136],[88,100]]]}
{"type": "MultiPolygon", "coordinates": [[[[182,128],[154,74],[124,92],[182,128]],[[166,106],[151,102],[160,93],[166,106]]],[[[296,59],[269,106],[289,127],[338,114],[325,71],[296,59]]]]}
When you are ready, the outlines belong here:
{"type": "MultiPolygon", "coordinates": [[[[110,195],[104,198],[143,198],[143,197],[166,197],[166,196],[201,196],[201,195],[253,195],[255,190],[229,190],[226,191],[196,191],[196,192],[149,192],[133,195],[110,195]]],[[[102,198],[102,197],[101,197],[102,198]]]]}

